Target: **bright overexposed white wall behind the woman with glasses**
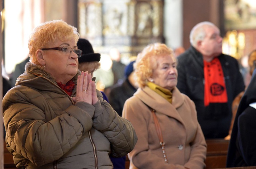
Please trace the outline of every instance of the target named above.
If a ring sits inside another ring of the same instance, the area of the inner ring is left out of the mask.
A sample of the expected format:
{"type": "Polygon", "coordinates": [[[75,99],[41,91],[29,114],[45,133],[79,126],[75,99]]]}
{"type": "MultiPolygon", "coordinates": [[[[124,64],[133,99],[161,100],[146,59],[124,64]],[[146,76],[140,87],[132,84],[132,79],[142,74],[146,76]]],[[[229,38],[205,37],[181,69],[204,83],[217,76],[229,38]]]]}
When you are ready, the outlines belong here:
{"type": "Polygon", "coordinates": [[[5,0],[5,71],[28,56],[28,39],[34,27],[42,22],[41,0],[5,0]],[[14,5],[15,4],[15,5],[14,5]]]}

